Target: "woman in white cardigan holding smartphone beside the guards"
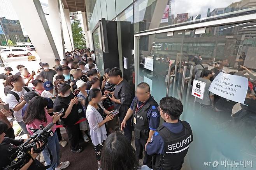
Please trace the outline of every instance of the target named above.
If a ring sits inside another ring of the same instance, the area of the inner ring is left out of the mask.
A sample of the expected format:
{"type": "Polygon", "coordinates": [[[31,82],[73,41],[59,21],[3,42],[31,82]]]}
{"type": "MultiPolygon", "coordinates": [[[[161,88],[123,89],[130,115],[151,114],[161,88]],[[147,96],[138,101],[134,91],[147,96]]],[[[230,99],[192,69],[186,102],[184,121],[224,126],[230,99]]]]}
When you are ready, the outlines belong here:
{"type": "Polygon", "coordinates": [[[86,118],[89,123],[91,140],[94,145],[96,159],[99,166],[102,146],[104,140],[107,138],[107,130],[104,125],[115,116],[112,114],[113,111],[109,112],[98,104],[101,101],[101,97],[102,94],[99,89],[91,89],[85,102],[85,105],[87,106],[86,118]],[[107,114],[106,117],[103,116],[104,113],[107,114]]]}

